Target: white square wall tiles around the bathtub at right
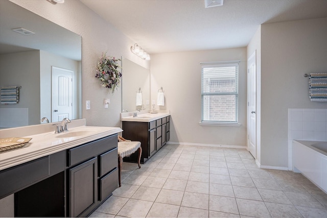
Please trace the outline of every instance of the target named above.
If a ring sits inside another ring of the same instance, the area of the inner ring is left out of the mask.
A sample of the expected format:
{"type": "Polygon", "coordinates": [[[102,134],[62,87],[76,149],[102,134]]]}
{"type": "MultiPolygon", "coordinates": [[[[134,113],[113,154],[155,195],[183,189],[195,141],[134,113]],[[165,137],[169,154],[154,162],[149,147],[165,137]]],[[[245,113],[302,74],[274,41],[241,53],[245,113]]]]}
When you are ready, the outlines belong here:
{"type": "Polygon", "coordinates": [[[327,109],[288,109],[288,169],[292,170],[292,141],[327,141],[327,109]]]}

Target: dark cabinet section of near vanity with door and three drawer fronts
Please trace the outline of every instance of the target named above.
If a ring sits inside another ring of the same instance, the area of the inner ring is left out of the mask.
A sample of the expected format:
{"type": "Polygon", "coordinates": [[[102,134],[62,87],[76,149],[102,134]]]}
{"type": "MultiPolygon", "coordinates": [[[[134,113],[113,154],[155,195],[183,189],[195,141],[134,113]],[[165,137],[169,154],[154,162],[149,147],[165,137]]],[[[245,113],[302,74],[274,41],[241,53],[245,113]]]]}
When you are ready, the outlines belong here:
{"type": "Polygon", "coordinates": [[[117,188],[118,136],[69,149],[68,216],[87,216],[117,188]]]}

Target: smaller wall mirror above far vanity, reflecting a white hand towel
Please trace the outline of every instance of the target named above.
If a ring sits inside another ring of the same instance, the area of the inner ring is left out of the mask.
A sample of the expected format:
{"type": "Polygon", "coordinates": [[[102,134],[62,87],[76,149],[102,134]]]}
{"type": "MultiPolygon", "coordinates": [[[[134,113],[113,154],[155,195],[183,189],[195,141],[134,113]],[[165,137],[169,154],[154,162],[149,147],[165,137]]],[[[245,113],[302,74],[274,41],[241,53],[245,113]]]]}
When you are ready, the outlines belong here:
{"type": "Polygon", "coordinates": [[[149,110],[150,70],[124,57],[122,69],[122,110],[124,112],[149,110]]]}

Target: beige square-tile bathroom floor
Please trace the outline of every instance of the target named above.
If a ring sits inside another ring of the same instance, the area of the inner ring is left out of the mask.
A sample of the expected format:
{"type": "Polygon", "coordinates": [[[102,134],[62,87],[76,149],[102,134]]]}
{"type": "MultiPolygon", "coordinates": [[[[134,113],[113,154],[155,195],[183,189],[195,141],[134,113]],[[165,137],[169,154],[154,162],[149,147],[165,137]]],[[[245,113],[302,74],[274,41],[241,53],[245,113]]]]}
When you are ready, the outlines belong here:
{"type": "Polygon", "coordinates": [[[327,217],[327,195],[244,149],[167,144],[141,168],[124,162],[122,187],[91,217],[327,217]]]}

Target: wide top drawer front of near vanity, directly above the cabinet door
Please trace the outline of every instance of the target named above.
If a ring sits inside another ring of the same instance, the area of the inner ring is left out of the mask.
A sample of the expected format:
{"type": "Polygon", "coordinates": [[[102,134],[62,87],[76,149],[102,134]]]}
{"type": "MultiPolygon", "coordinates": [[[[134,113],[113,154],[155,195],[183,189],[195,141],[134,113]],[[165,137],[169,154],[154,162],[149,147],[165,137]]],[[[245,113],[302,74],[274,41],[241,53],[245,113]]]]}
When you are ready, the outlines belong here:
{"type": "Polygon", "coordinates": [[[118,134],[92,141],[68,150],[68,166],[75,165],[91,157],[96,157],[113,148],[117,148],[118,134]]]}

